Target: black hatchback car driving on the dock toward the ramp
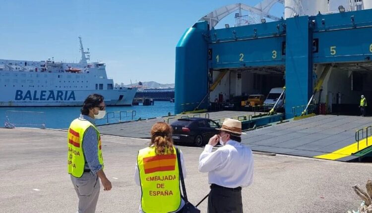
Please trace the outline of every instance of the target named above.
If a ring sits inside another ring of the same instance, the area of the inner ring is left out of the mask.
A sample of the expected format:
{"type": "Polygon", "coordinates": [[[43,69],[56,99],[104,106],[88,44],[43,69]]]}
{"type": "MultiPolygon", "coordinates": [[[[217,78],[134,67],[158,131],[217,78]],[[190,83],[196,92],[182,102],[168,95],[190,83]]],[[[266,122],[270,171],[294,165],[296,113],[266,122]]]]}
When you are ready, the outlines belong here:
{"type": "Polygon", "coordinates": [[[171,123],[173,128],[173,141],[192,143],[195,146],[207,144],[209,139],[218,134],[220,125],[208,118],[181,118],[171,123]]]}

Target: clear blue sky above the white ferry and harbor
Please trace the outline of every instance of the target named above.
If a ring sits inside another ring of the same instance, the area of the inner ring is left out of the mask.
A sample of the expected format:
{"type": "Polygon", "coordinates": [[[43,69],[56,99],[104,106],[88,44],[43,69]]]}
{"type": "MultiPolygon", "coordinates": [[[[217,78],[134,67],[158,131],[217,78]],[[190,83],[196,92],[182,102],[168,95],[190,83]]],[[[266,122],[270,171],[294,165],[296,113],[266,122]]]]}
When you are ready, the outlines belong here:
{"type": "MultiPolygon", "coordinates": [[[[260,0],[242,3],[255,5],[260,0]]],[[[0,58],[77,62],[78,36],[115,83],[174,83],[175,48],[199,18],[236,0],[1,0],[0,58]]],[[[283,5],[271,13],[283,16],[283,5]]],[[[227,17],[221,26],[234,25],[227,17]],[[225,20],[226,19],[226,20],[225,20]]]]}

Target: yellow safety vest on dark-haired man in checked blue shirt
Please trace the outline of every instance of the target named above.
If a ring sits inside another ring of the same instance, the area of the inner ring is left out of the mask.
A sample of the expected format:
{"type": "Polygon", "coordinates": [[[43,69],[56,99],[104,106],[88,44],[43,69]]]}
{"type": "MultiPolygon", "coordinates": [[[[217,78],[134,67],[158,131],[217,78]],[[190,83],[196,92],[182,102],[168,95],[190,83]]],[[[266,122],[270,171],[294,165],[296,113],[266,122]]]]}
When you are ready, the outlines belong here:
{"type": "Polygon", "coordinates": [[[85,130],[90,126],[92,126],[97,132],[98,160],[103,169],[100,132],[91,122],[77,118],[71,122],[67,133],[67,170],[68,173],[72,174],[74,177],[81,177],[84,173],[85,159],[83,151],[83,137],[85,130]]]}

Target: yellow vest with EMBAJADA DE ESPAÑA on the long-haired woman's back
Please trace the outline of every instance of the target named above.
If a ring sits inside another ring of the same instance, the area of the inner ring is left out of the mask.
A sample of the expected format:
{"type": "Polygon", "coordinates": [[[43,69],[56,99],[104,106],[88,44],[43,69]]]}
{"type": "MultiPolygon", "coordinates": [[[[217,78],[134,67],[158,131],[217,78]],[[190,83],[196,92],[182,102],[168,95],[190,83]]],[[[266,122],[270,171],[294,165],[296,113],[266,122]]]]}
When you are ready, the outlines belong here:
{"type": "Polygon", "coordinates": [[[181,205],[180,171],[174,154],[156,155],[155,147],[138,151],[141,207],[144,213],[175,212],[181,205]]]}

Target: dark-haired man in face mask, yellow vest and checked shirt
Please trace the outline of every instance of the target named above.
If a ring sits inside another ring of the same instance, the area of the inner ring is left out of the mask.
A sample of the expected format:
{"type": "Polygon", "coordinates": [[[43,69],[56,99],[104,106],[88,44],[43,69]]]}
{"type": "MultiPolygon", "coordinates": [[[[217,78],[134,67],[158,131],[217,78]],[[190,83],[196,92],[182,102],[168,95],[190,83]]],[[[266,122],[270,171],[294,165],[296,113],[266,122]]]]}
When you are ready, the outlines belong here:
{"type": "Polygon", "coordinates": [[[104,97],[89,95],[81,108],[79,118],[73,120],[67,134],[67,169],[79,199],[77,213],[94,213],[100,183],[105,191],[111,190],[111,182],[103,171],[101,137],[94,119],[105,116],[104,97]]]}

